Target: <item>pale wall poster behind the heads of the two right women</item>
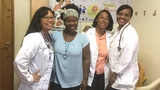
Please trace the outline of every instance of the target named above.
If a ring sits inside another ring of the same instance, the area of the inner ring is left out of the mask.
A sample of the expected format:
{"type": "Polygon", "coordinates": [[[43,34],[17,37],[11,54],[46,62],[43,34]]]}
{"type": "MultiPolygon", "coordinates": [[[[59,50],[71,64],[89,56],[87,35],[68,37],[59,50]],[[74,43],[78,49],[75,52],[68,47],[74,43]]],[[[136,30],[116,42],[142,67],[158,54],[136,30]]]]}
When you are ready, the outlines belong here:
{"type": "Polygon", "coordinates": [[[81,10],[80,21],[92,22],[100,10],[109,10],[116,22],[116,10],[122,4],[131,5],[131,0],[74,0],[81,10]]]}

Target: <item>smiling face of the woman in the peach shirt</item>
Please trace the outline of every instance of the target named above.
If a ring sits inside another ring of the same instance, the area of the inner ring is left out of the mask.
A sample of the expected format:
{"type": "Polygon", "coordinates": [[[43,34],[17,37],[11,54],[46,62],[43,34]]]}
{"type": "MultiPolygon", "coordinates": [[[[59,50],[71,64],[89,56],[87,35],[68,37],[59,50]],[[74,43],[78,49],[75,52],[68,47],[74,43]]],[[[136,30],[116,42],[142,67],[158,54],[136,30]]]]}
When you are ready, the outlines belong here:
{"type": "Polygon", "coordinates": [[[97,27],[99,29],[106,29],[106,27],[109,25],[109,15],[107,12],[101,12],[96,19],[97,21],[97,27]]]}

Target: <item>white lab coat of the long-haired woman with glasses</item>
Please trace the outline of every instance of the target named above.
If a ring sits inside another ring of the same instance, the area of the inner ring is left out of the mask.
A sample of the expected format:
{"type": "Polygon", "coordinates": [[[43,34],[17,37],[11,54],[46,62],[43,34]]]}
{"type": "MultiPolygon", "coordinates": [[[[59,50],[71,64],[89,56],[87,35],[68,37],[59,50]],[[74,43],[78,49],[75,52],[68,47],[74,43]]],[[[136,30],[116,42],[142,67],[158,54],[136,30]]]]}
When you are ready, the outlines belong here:
{"type": "Polygon", "coordinates": [[[40,32],[25,36],[14,61],[15,73],[21,81],[18,90],[48,90],[53,60],[53,51],[47,47],[40,32]],[[41,78],[39,82],[33,82],[31,74],[38,69],[41,78]]]}

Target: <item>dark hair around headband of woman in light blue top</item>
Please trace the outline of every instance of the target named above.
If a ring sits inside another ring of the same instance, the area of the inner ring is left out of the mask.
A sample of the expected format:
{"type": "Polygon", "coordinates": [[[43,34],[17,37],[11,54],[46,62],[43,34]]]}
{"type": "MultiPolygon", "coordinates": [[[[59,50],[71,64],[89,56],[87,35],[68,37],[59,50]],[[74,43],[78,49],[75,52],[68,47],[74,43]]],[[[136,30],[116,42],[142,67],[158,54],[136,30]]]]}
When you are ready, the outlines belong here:
{"type": "MultiPolygon", "coordinates": [[[[80,17],[79,7],[77,5],[75,5],[75,4],[67,4],[66,6],[62,7],[62,9],[74,9],[74,10],[76,10],[78,12],[78,18],[80,17]]],[[[63,16],[64,16],[64,13],[61,13],[60,18],[62,20],[64,20],[63,16]]]]}

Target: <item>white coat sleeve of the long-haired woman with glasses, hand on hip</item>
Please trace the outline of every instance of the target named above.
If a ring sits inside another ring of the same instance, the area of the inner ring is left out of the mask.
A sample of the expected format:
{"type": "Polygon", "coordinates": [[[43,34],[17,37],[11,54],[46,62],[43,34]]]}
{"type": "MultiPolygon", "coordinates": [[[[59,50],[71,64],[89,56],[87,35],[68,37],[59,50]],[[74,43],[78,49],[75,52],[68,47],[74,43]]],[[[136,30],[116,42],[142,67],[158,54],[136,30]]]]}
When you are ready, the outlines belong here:
{"type": "Polygon", "coordinates": [[[30,85],[33,82],[33,76],[28,70],[28,66],[31,58],[33,58],[38,50],[39,38],[35,38],[35,35],[28,35],[23,39],[22,46],[15,58],[14,71],[20,78],[21,82],[30,85]]]}

